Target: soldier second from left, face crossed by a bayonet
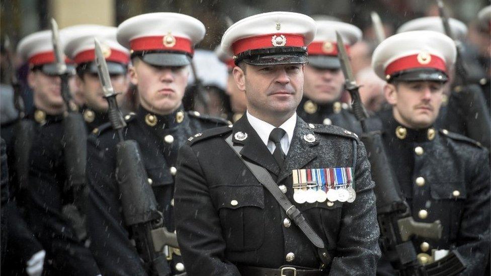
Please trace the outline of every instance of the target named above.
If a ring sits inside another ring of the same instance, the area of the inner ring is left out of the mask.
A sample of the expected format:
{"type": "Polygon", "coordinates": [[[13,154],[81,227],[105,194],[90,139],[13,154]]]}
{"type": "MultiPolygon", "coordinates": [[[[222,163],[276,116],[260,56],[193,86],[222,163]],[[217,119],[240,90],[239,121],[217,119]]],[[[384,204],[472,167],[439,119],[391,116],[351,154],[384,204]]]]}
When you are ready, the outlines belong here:
{"type": "MultiPolygon", "coordinates": [[[[84,99],[83,115],[89,132],[108,122],[108,103],[103,98],[102,86],[97,74],[94,54],[94,38],[97,37],[105,45],[111,83],[121,93],[116,99],[121,102],[128,90],[127,77],[129,50],[116,41],[116,27],[98,25],[83,26],[76,36],[65,43],[65,54],[73,59],[76,66],[75,83],[84,99]]],[[[97,132],[97,130],[96,130],[97,132]]]]}

